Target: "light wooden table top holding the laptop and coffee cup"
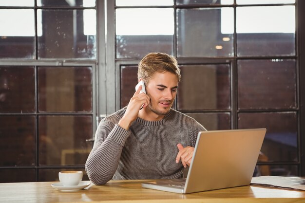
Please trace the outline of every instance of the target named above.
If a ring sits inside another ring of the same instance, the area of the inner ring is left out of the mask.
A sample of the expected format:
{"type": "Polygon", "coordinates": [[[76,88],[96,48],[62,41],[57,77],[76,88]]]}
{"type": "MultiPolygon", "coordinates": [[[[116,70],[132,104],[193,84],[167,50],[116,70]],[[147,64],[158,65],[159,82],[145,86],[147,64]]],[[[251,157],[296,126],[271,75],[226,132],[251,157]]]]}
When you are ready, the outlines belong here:
{"type": "Polygon", "coordinates": [[[248,185],[191,194],[141,187],[147,180],[110,181],[75,192],[54,189],[54,182],[2,183],[0,203],[305,203],[305,191],[248,185]]]}

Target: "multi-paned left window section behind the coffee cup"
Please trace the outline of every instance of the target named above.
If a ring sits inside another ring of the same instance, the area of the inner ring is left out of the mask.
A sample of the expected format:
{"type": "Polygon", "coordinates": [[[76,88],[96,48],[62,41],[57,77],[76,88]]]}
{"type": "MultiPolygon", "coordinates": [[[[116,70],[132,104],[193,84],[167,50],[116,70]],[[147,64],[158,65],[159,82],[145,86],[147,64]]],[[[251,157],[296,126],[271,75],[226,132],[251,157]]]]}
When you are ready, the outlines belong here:
{"type": "Polygon", "coordinates": [[[95,0],[0,6],[0,182],[84,171],[96,129],[95,0]]]}

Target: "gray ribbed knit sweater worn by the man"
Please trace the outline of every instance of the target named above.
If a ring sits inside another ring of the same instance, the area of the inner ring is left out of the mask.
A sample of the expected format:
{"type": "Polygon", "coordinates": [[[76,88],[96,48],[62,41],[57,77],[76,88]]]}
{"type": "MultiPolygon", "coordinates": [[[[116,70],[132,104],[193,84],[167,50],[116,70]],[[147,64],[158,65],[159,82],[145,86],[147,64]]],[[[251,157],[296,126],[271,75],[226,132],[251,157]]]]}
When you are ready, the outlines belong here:
{"type": "Polygon", "coordinates": [[[129,130],[117,123],[123,108],[104,118],[95,133],[85,168],[95,185],[109,180],[182,178],[183,165],[175,163],[177,144],[194,147],[199,131],[193,118],[171,109],[159,121],[137,118],[129,130]]]}

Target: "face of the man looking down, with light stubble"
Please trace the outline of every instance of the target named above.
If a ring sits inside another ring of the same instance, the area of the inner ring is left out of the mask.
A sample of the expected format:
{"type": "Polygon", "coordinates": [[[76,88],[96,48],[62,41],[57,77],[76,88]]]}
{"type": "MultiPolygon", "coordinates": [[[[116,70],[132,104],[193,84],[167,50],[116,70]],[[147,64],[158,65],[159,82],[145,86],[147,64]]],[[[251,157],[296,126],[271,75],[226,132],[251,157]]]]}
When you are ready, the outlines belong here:
{"type": "Polygon", "coordinates": [[[176,97],[178,78],[169,72],[155,73],[145,88],[151,99],[149,110],[157,115],[165,115],[170,111],[176,97]]]}

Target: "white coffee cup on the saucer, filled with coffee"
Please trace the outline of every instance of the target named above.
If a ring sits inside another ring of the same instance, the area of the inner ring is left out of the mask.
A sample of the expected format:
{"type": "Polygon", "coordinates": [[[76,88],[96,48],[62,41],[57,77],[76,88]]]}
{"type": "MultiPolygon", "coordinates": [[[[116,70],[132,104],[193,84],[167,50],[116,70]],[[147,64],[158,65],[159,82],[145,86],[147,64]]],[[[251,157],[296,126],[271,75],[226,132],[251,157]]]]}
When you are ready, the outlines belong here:
{"type": "Polygon", "coordinates": [[[81,182],[83,172],[76,170],[60,171],[58,177],[63,186],[75,186],[81,182]]]}

